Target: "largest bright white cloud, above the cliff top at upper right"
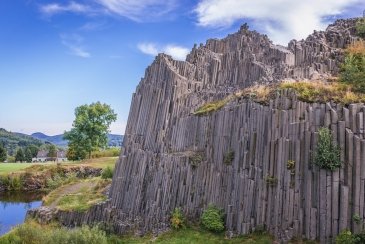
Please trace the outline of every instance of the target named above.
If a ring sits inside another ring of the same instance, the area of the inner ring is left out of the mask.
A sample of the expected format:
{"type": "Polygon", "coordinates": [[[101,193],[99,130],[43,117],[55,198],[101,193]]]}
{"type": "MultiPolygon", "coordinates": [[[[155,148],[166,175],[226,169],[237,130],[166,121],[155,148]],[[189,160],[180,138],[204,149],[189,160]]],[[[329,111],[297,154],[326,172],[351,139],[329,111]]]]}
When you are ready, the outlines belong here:
{"type": "MultiPolygon", "coordinates": [[[[227,27],[237,20],[250,19],[270,38],[287,44],[313,30],[324,29],[325,18],[342,14],[363,0],[201,0],[195,8],[198,25],[227,27]]],[[[360,11],[361,12],[361,11],[360,11]]]]}

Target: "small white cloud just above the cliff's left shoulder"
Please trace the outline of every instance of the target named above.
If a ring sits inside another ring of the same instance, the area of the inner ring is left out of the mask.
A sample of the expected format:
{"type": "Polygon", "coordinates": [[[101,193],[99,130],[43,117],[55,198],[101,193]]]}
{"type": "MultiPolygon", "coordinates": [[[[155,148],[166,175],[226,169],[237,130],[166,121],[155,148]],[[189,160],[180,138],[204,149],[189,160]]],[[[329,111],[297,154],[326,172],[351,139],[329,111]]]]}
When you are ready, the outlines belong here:
{"type": "Polygon", "coordinates": [[[186,55],[190,52],[188,48],[174,44],[159,46],[155,43],[140,43],[137,47],[141,52],[151,56],[156,56],[158,53],[165,53],[177,60],[185,60],[186,55]]]}

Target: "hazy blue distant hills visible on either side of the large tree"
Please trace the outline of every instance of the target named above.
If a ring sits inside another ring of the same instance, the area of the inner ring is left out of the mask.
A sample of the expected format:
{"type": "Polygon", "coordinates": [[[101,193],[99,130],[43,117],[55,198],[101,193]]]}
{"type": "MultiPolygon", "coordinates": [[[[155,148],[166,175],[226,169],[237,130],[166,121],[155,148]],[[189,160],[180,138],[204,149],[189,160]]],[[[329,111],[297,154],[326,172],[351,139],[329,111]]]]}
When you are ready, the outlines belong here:
{"type": "MultiPolygon", "coordinates": [[[[48,136],[41,132],[36,132],[31,135],[33,138],[39,139],[41,141],[47,141],[52,144],[55,144],[59,147],[66,147],[68,142],[67,140],[63,139],[63,134],[55,135],[55,136],[48,136]]],[[[122,146],[123,136],[122,135],[115,135],[109,134],[108,135],[108,146],[110,147],[120,147],[122,146]]]]}

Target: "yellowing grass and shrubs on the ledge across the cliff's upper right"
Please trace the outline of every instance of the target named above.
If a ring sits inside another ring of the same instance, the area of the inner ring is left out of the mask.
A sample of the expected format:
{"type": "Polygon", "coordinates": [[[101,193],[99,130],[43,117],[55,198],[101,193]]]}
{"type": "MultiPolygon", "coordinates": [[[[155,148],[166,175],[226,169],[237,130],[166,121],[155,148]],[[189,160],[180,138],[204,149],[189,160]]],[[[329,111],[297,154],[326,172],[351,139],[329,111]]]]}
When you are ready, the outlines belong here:
{"type": "MultiPolygon", "coordinates": [[[[359,22],[357,28],[358,32],[361,32],[362,28],[364,28],[365,33],[364,19],[359,22]]],[[[222,100],[206,103],[200,106],[193,114],[207,115],[218,111],[229,101],[240,97],[267,105],[271,99],[276,97],[278,92],[284,89],[294,90],[299,100],[309,103],[326,103],[329,101],[343,105],[365,103],[365,41],[359,40],[350,44],[344,50],[344,54],[345,60],[341,65],[339,78],[326,82],[298,81],[271,85],[254,85],[229,95],[222,100]]]]}

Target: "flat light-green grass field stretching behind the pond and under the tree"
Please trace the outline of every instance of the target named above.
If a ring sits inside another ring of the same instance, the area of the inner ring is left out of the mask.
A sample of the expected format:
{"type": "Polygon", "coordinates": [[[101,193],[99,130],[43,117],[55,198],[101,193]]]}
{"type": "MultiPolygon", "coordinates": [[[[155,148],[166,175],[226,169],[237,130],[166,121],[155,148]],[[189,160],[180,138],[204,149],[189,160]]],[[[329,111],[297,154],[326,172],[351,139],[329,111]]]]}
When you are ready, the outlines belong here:
{"type": "MultiPolygon", "coordinates": [[[[106,168],[111,167],[114,169],[115,162],[117,161],[118,157],[106,157],[106,158],[93,158],[93,159],[86,159],[83,161],[68,161],[61,163],[62,165],[85,165],[85,166],[91,166],[95,168],[106,168]]],[[[48,163],[0,163],[0,175],[6,175],[11,174],[15,172],[21,172],[25,169],[33,166],[33,165],[55,165],[54,162],[48,162],[48,163]]]]}

